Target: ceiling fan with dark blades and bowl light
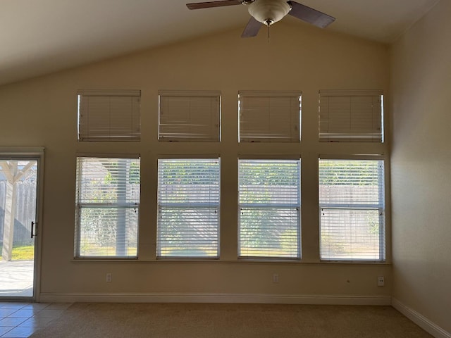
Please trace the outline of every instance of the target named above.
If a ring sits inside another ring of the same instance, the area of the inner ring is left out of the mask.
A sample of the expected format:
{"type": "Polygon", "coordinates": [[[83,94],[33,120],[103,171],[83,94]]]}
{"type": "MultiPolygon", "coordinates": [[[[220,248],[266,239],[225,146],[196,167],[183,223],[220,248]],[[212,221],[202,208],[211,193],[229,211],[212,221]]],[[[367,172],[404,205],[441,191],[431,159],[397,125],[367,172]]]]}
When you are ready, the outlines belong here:
{"type": "Polygon", "coordinates": [[[233,5],[249,5],[251,18],[241,37],[255,37],[262,24],[269,27],[287,14],[321,28],[327,27],[335,20],[333,16],[291,0],[221,0],[197,2],[186,6],[189,9],[200,9],[233,5]]]}

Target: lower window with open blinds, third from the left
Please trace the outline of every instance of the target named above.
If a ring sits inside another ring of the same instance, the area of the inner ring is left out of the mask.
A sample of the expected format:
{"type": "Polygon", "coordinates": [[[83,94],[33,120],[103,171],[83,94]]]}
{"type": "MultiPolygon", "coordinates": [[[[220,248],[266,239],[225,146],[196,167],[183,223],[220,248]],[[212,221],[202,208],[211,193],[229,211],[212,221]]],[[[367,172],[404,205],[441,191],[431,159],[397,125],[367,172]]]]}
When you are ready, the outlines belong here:
{"type": "Polygon", "coordinates": [[[238,162],[240,257],[300,258],[300,161],[238,162]]]}

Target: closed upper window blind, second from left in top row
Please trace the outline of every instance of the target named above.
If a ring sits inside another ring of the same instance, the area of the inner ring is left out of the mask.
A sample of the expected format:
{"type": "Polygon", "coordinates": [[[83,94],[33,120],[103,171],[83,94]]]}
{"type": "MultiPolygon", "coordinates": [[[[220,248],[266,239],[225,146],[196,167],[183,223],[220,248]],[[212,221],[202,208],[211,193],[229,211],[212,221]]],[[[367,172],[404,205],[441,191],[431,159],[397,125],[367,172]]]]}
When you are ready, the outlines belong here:
{"type": "Polygon", "coordinates": [[[221,92],[160,91],[159,140],[218,142],[221,92]]]}

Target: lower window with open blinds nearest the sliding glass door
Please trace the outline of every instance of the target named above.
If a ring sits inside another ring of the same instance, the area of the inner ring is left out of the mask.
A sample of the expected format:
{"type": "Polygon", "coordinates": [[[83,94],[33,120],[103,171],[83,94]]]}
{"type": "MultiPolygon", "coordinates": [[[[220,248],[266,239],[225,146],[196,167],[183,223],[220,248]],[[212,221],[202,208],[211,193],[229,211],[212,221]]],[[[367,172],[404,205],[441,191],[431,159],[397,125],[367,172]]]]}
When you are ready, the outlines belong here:
{"type": "Polygon", "coordinates": [[[77,158],[75,256],[136,257],[139,158],[77,158]]]}

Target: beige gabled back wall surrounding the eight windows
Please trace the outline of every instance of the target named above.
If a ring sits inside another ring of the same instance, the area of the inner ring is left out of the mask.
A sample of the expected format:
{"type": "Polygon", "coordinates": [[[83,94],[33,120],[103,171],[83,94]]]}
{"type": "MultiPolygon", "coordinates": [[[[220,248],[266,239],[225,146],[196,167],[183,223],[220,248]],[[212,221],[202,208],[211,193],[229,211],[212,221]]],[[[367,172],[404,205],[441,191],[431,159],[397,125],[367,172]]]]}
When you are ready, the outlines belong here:
{"type": "Polygon", "coordinates": [[[0,87],[0,144],[46,149],[42,299],[80,300],[81,295],[101,294],[125,294],[125,298],[132,294],[237,294],[266,301],[280,301],[280,296],[300,301],[307,295],[326,296],[332,302],[345,297],[351,303],[359,296],[369,303],[390,299],[389,263],[319,263],[317,206],[319,154],[387,154],[385,144],[319,144],[318,91],[388,92],[388,46],[297,22],[273,26],[270,42],[264,33],[240,39],[240,28],[0,87]],[[78,143],[77,89],[141,89],[142,141],[78,143]],[[157,142],[159,89],[221,90],[221,144],[157,142]],[[238,144],[237,92],[245,89],[301,90],[302,143],[238,144]],[[75,156],[111,152],[142,157],[140,259],[73,261],[75,156]],[[221,156],[221,260],[156,261],[156,159],[159,154],[205,152],[221,156]],[[237,261],[238,154],[302,155],[302,263],[237,261]],[[108,272],[113,282],[107,284],[108,272]],[[278,284],[272,283],[273,273],[280,275],[278,284]],[[379,275],[385,276],[385,287],[376,286],[379,275]]]}

